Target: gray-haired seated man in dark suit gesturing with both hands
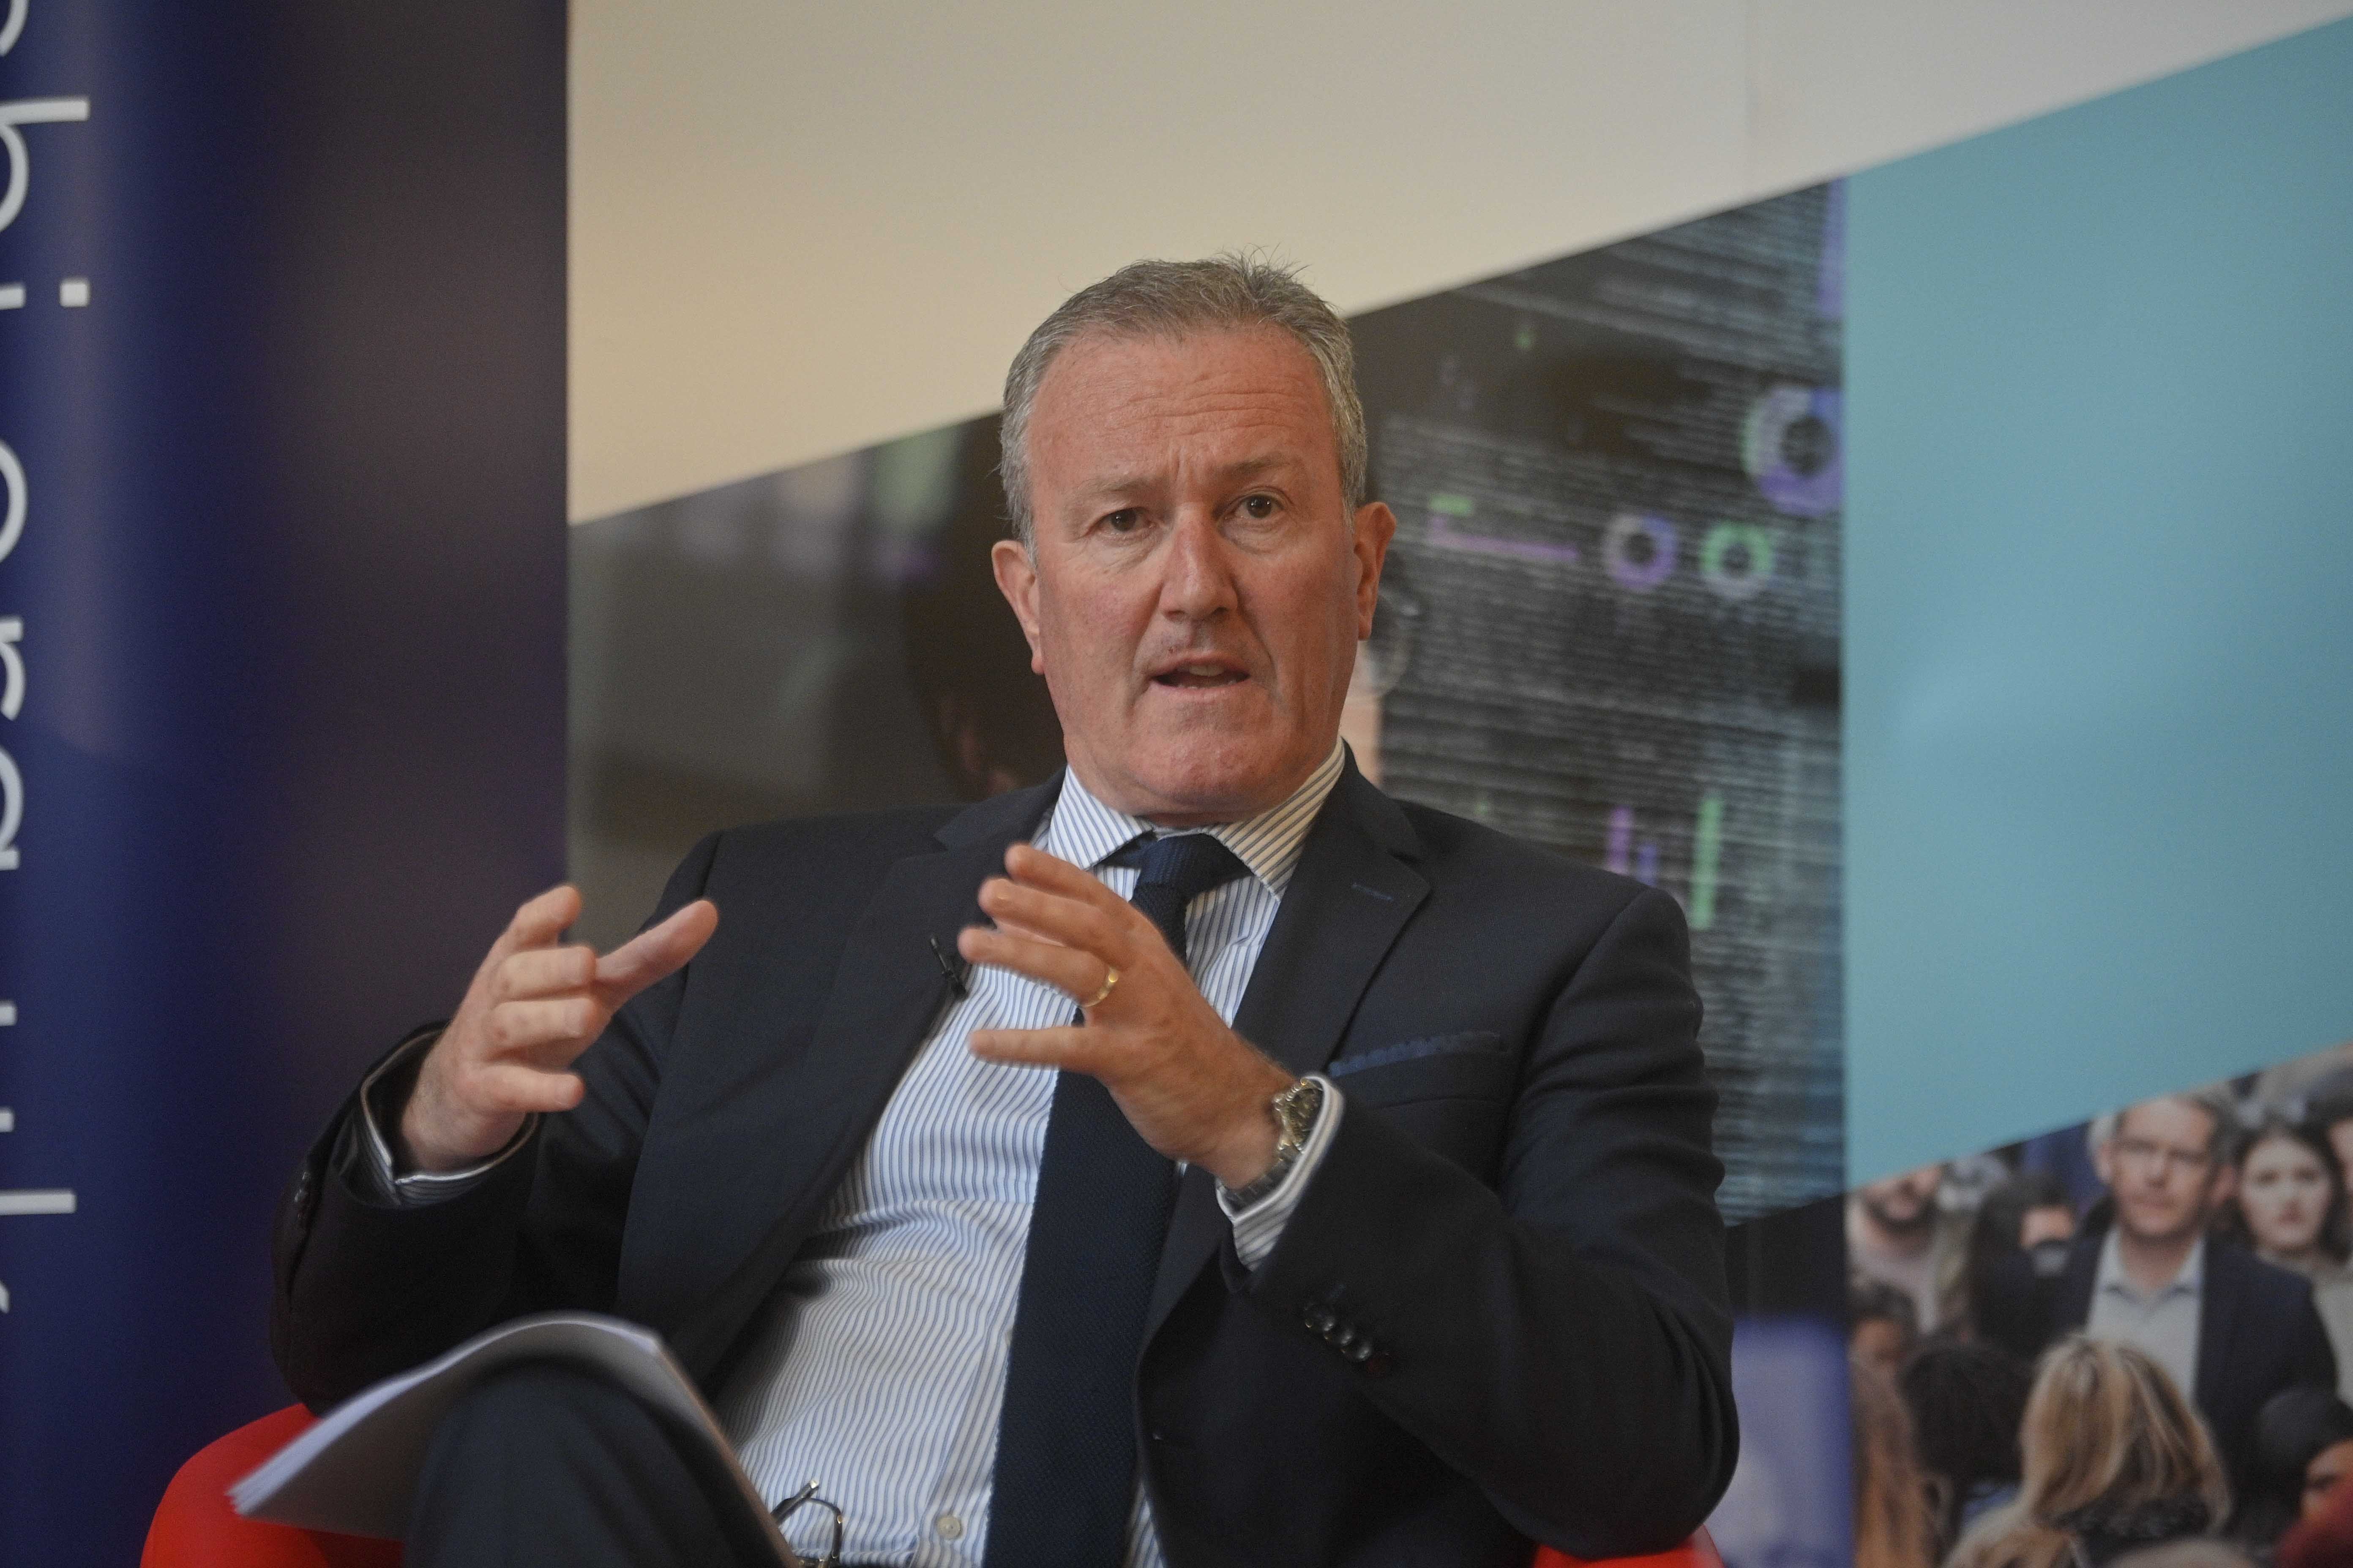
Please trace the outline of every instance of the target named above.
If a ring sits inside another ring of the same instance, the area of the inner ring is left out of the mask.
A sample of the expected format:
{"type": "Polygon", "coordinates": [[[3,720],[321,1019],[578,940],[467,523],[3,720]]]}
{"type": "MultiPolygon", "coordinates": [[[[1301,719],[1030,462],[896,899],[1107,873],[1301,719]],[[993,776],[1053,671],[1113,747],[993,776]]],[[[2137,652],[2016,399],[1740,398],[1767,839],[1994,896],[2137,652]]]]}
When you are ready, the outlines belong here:
{"type": "MultiPolygon", "coordinates": [[[[866,1563],[1673,1544],[1737,1448],[1682,917],[1339,745],[1395,529],[1346,327],[1264,263],[1125,268],[1016,357],[1005,482],[1068,771],[715,835],[602,959],[522,905],[289,1192],[289,1382],[616,1312],[866,1563]]],[[[409,1561],[762,1528],[536,1368],[442,1425],[409,1561]]]]}

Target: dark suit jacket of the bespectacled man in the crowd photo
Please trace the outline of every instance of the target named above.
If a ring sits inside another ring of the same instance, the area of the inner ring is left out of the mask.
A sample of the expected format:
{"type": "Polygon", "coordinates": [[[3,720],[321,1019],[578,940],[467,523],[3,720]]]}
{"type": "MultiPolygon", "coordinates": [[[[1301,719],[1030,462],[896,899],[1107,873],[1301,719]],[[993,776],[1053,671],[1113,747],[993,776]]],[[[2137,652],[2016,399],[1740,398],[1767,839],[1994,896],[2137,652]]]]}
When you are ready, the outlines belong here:
{"type": "MultiPolygon", "coordinates": [[[[1986,1338],[2038,1356],[2052,1340],[2089,1324],[2106,1237],[2104,1229],[2075,1237],[2059,1274],[2038,1276],[2026,1253],[2005,1258],[1986,1291],[1986,1338]]],[[[2233,1497],[2254,1495],[2254,1418],[2264,1401],[2301,1385],[2337,1387],[2337,1352],[2313,1307],[2311,1281],[2233,1241],[2207,1237],[2198,1387],[2188,1394],[2231,1469],[2233,1497]]]]}

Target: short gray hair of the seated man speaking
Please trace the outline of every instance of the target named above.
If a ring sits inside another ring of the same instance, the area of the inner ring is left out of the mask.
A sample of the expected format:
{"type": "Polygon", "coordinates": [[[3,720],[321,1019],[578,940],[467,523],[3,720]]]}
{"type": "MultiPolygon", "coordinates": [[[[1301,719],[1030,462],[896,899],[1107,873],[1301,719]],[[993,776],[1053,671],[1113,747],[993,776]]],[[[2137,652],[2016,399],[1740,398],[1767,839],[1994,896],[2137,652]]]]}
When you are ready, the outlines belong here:
{"type": "Polygon", "coordinates": [[[1005,505],[1024,548],[1035,543],[1031,512],[1028,421],[1038,388],[1056,355],[1078,339],[1101,331],[1122,339],[1181,339],[1193,331],[1275,327],[1315,360],[1332,435],[1339,444],[1339,484],[1348,515],[1365,505],[1365,402],[1355,393],[1355,346],[1348,322],[1299,282],[1297,266],[1278,266],[1252,252],[1226,252],[1207,261],[1134,261],[1111,277],[1087,284],[1038,322],[1012,369],[1005,371],[1005,505]]]}

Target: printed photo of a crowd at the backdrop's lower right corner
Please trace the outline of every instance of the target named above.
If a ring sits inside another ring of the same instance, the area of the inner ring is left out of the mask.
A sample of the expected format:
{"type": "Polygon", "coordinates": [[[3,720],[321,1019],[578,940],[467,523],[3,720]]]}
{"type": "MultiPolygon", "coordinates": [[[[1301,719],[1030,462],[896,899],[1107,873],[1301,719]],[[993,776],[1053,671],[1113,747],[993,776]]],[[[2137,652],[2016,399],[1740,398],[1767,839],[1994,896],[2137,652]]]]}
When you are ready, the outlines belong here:
{"type": "Polygon", "coordinates": [[[1854,1561],[2353,1561],[2348,1171],[2353,1044],[1852,1192],[1854,1561]]]}

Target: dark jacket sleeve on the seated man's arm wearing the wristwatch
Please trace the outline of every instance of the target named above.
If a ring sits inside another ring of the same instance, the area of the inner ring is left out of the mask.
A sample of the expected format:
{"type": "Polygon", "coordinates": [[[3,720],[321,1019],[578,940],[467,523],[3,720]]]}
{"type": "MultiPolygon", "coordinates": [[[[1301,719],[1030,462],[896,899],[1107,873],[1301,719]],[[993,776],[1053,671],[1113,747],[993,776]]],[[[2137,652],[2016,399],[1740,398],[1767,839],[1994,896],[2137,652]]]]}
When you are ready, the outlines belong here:
{"type": "Polygon", "coordinates": [[[1289,1331],[1369,1340],[1365,1394],[1581,1556],[1682,1540],[1739,1446],[1687,947],[1645,889],[1574,966],[1497,1187],[1351,1103],[1273,1258],[1231,1274],[1289,1331]]]}

